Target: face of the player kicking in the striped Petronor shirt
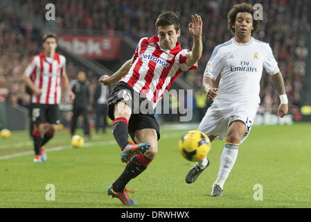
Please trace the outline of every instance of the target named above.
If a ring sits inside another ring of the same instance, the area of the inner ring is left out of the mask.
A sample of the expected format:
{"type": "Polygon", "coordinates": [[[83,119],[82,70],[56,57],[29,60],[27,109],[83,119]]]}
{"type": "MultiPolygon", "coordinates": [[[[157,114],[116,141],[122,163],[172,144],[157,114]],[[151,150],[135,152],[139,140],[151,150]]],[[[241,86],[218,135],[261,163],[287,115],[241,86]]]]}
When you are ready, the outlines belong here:
{"type": "Polygon", "coordinates": [[[174,49],[180,35],[180,29],[176,32],[174,25],[158,26],[158,36],[163,49],[174,49]]]}

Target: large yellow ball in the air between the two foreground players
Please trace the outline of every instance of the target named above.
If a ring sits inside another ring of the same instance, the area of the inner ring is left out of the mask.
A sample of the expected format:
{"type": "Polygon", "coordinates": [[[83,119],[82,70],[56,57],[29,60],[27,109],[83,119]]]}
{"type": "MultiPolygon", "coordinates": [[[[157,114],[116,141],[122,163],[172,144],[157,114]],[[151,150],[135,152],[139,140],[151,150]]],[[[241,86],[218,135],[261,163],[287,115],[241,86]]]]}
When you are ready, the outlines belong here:
{"type": "Polygon", "coordinates": [[[198,162],[211,150],[211,141],[208,136],[197,130],[186,133],[179,139],[179,153],[186,160],[198,162]]]}

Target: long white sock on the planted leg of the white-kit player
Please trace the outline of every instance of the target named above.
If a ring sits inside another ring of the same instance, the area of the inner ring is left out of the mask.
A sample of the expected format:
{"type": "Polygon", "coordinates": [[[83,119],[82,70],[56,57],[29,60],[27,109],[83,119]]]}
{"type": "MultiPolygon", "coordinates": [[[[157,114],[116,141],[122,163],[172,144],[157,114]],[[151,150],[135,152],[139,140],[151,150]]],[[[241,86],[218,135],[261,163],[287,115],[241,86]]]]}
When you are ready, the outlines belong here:
{"type": "Polygon", "coordinates": [[[217,180],[213,185],[217,184],[224,189],[224,182],[228,178],[229,173],[238,157],[238,145],[224,144],[224,151],[220,157],[220,169],[218,171],[217,180]]]}

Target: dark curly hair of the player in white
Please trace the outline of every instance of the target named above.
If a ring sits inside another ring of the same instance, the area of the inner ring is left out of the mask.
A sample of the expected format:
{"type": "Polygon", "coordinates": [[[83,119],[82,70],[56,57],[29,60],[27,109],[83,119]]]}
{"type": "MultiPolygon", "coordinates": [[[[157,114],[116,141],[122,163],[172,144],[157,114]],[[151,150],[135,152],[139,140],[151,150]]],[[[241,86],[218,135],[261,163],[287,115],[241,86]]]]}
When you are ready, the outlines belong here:
{"type": "MultiPolygon", "coordinates": [[[[251,6],[251,4],[245,3],[245,2],[234,5],[233,8],[231,8],[231,10],[228,13],[228,28],[231,31],[231,33],[233,33],[233,35],[235,33],[235,28],[233,28],[232,26],[236,24],[236,15],[238,15],[239,12],[249,12],[251,13],[251,16],[253,16],[256,10],[257,9],[254,9],[254,7],[251,6]]],[[[253,18],[254,29],[251,31],[251,35],[254,35],[254,33],[257,33],[259,26],[260,26],[260,21],[255,20],[253,18]]]]}

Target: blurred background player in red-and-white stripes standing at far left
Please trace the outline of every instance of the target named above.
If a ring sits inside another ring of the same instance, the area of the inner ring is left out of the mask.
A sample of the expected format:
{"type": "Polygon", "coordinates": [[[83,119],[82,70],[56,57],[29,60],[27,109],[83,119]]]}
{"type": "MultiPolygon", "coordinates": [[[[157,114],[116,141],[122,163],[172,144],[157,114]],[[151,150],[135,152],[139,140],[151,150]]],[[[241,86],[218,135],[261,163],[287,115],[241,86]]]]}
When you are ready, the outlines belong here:
{"type": "Polygon", "coordinates": [[[71,99],[74,99],[75,96],[69,87],[69,80],[66,76],[66,59],[55,52],[57,40],[54,33],[44,35],[43,47],[44,51],[33,57],[23,75],[24,82],[33,92],[31,101],[34,123],[34,162],[46,160],[46,153],[42,146],[55,135],[59,118],[58,104],[62,92],[61,83],[69,92],[71,99]],[[48,128],[42,138],[46,122],[48,128]]]}

